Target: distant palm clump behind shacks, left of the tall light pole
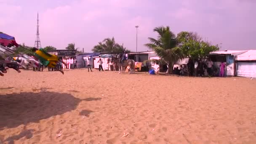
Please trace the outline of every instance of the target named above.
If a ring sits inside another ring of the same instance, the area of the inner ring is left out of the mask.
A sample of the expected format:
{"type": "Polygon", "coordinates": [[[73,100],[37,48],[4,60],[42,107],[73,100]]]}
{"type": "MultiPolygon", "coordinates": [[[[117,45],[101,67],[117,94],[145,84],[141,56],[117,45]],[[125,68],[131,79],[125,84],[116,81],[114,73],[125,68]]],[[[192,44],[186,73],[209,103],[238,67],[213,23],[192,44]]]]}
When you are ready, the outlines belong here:
{"type": "Polygon", "coordinates": [[[105,38],[98,45],[95,45],[92,49],[93,52],[116,52],[121,53],[123,51],[130,52],[123,45],[119,45],[115,42],[115,38],[105,38]]]}

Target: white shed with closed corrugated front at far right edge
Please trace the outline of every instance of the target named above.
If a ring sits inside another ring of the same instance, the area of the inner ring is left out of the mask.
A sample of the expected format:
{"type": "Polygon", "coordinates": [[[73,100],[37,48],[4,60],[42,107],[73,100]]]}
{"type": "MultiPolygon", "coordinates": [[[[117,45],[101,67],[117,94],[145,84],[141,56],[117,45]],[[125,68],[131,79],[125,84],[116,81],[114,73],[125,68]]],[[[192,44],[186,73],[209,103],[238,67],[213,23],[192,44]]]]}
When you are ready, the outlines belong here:
{"type": "Polygon", "coordinates": [[[249,50],[235,57],[236,76],[256,78],[256,50],[249,50]]]}

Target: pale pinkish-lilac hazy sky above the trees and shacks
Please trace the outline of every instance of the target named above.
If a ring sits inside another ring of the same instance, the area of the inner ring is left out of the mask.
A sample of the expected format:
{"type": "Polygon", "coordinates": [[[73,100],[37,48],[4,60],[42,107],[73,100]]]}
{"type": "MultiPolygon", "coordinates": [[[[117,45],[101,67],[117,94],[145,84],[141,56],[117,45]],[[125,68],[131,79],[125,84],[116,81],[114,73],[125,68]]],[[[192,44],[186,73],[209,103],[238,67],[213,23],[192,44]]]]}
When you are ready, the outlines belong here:
{"type": "Polygon", "coordinates": [[[37,11],[42,47],[68,43],[90,52],[106,37],[136,51],[147,51],[154,27],[175,34],[197,32],[221,50],[256,49],[256,0],[0,0],[0,31],[34,46],[37,11]]]}

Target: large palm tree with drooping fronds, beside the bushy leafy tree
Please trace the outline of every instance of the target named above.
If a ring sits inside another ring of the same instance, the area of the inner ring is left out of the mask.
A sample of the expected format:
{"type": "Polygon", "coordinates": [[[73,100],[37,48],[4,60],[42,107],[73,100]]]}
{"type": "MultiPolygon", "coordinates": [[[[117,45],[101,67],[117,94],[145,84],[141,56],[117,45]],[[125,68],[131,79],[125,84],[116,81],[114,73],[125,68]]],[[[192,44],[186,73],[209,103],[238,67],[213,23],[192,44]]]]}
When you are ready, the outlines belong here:
{"type": "Polygon", "coordinates": [[[168,73],[171,74],[173,65],[184,58],[181,48],[177,47],[177,40],[170,27],[155,27],[153,30],[158,33],[157,39],[149,37],[151,43],[145,44],[148,48],[157,53],[161,60],[168,65],[168,73]]]}

